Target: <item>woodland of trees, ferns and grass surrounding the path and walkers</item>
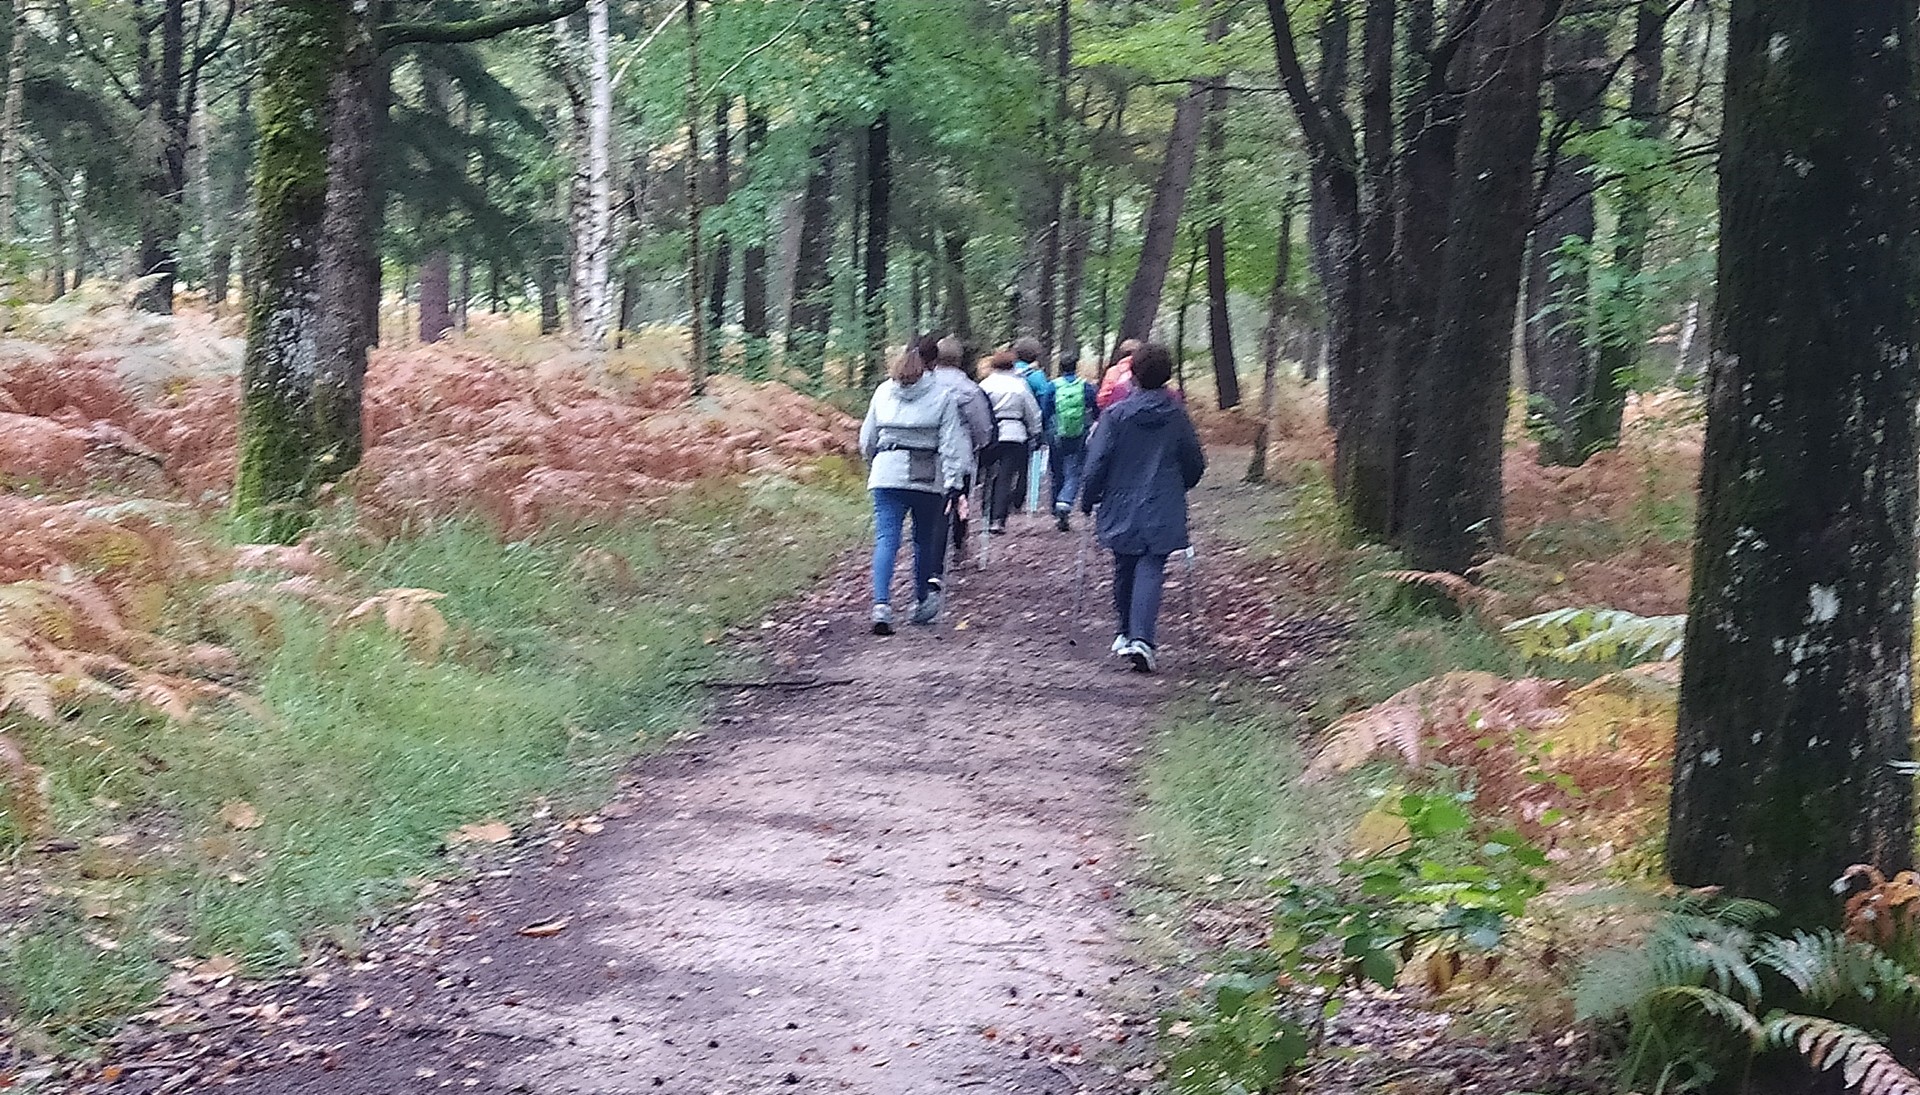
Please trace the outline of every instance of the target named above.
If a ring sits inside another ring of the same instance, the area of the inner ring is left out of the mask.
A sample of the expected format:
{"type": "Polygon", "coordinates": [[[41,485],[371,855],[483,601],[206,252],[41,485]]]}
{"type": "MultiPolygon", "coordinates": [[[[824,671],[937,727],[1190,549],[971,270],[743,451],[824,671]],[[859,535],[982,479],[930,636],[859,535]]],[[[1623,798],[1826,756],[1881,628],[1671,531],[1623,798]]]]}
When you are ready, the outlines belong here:
{"type": "Polygon", "coordinates": [[[1910,6],[8,12],[15,1057],[589,811],[933,328],[1252,444],[1160,1082],[1920,1087],[1910,6]]]}

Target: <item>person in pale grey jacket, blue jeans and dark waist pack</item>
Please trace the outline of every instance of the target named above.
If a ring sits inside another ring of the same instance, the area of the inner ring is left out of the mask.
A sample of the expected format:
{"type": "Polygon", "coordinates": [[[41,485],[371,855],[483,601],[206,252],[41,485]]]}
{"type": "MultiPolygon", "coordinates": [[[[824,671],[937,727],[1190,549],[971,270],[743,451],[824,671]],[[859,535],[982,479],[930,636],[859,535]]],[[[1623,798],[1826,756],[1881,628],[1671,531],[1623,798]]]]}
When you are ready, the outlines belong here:
{"type": "Polygon", "coordinates": [[[906,515],[914,517],[912,620],[931,624],[941,615],[945,499],[966,482],[973,450],[960,405],[918,352],[902,353],[874,392],[860,423],[860,453],[872,465],[866,486],[874,496],[874,634],[893,634],[893,565],[906,515]]]}

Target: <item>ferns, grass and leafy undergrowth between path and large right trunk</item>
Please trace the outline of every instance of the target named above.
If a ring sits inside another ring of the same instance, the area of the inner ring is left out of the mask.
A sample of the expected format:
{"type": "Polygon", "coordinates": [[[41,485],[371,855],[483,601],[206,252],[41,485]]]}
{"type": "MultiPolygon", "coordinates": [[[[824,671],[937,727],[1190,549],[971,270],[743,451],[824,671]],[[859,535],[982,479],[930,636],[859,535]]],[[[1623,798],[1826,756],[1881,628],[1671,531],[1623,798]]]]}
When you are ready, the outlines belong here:
{"type": "Polygon", "coordinates": [[[1165,1078],[1605,1089],[1574,984],[1653,918],[1697,403],[1636,398],[1580,469],[1515,438],[1509,555],[1465,576],[1352,542],[1311,421],[1223,532],[1244,615],[1329,638],[1188,690],[1144,774],[1150,951],[1194,972],[1165,1078]]]}

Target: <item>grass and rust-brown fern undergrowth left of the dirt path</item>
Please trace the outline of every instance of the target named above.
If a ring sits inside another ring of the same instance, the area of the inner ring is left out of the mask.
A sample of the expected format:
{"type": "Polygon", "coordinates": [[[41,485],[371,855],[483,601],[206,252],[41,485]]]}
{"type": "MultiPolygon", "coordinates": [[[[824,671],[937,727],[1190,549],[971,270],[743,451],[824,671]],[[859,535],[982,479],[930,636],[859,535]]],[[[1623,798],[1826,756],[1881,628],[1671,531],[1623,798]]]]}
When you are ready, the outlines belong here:
{"type": "Polygon", "coordinates": [[[689,726],[730,628],[864,517],[822,403],[722,380],[666,411],[676,373],[520,363],[495,336],[376,355],[367,467],[300,546],[242,544],[211,490],[217,327],[86,311],[0,357],[17,1049],[84,1049],[163,987],[351,955],[528,826],[591,824],[622,765],[689,726]]]}

